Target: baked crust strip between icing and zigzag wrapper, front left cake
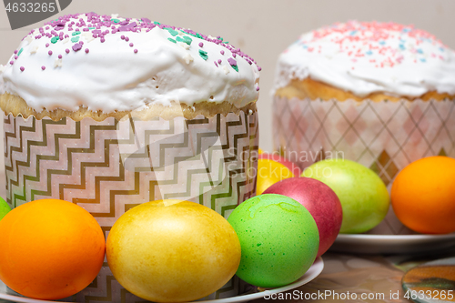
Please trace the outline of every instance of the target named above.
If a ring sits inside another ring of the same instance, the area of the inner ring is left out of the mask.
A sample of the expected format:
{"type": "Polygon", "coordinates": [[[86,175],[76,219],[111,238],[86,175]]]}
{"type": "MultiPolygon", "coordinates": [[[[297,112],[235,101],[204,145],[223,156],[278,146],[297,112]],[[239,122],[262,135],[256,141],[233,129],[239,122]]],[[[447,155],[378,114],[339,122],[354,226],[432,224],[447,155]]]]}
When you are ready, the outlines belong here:
{"type": "Polygon", "coordinates": [[[141,120],[150,120],[157,116],[160,116],[166,120],[173,119],[176,116],[185,116],[187,119],[193,119],[197,115],[204,115],[206,117],[212,117],[217,114],[223,114],[226,116],[228,113],[235,113],[238,115],[240,111],[249,112],[249,110],[256,111],[256,102],[249,103],[247,106],[238,108],[233,106],[231,103],[224,101],[216,104],[213,102],[200,102],[194,106],[172,104],[171,106],[162,105],[151,105],[144,110],[140,111],[122,111],[113,113],[103,113],[102,111],[93,112],[86,109],[86,107],[80,107],[76,112],[56,109],[52,111],[43,110],[37,113],[33,108],[27,106],[25,100],[20,96],[14,96],[5,93],[0,96],[0,107],[5,111],[5,114],[13,114],[13,116],[21,115],[27,118],[28,116],[35,116],[37,119],[42,119],[45,116],[58,121],[62,117],[70,117],[75,121],[80,121],[85,117],[91,117],[96,121],[103,121],[106,117],[113,116],[117,120],[121,120],[124,116],[138,117],[141,120]]]}

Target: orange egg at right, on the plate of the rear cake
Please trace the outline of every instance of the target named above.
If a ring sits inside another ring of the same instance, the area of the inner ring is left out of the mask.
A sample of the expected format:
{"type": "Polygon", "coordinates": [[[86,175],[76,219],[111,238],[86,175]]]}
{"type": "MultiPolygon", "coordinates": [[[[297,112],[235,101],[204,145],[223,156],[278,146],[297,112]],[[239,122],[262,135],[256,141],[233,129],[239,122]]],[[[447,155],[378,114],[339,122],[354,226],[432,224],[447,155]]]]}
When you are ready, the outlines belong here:
{"type": "Polygon", "coordinates": [[[455,159],[425,157],[399,172],[390,193],[406,227],[424,234],[455,231],[455,159]]]}

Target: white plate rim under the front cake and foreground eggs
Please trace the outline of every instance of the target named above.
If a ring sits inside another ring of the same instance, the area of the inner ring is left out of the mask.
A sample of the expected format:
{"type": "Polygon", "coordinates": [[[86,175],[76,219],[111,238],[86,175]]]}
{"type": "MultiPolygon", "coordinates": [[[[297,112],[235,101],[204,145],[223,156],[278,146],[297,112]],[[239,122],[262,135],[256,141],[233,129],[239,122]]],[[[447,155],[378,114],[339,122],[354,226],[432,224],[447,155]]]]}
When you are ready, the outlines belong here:
{"type": "MultiPolygon", "coordinates": [[[[207,301],[198,301],[200,303],[235,303],[235,302],[245,302],[250,301],[256,298],[264,298],[271,294],[278,294],[279,292],[287,291],[293,288],[298,288],[304,284],[307,284],[309,281],[313,280],[314,278],[318,277],[321,273],[322,269],[324,269],[324,262],[322,258],[318,258],[313,265],[308,269],[308,271],[302,277],[298,278],[297,281],[291,283],[287,286],[282,288],[271,288],[263,292],[256,292],[248,295],[241,295],[232,298],[218,298],[214,300],[207,300],[207,301]]],[[[5,284],[0,281],[0,299],[5,299],[7,301],[13,302],[21,302],[21,303],[64,303],[62,301],[45,301],[45,300],[38,300],[35,298],[25,298],[19,297],[15,295],[8,295],[6,293],[6,286],[5,284]]]]}

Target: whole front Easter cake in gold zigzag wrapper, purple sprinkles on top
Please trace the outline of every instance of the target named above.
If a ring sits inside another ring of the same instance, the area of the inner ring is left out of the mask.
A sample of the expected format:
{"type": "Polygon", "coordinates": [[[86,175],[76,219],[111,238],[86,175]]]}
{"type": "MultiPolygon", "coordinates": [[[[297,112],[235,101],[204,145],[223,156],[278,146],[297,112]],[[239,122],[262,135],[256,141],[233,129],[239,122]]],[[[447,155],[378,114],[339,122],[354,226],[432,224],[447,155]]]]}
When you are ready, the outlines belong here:
{"type": "MultiPolygon", "coordinates": [[[[147,18],[64,15],[32,30],[0,66],[7,203],[76,203],[105,236],[161,198],[227,217],[255,193],[259,71],[220,36],[147,18]]],[[[104,267],[76,301],[138,299],[124,291],[104,267]]],[[[239,291],[231,280],[212,297],[239,291]]]]}

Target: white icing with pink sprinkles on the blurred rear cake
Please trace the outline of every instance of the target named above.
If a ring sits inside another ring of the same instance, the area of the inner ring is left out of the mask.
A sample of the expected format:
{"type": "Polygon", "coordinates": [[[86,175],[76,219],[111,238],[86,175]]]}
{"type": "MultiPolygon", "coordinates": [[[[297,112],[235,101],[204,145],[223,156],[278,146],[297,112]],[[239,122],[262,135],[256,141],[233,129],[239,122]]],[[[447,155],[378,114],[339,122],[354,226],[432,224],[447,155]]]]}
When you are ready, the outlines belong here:
{"type": "Polygon", "coordinates": [[[413,26],[350,21],[301,35],[278,59],[275,89],[307,77],[356,96],[455,94],[455,53],[413,26]]]}

